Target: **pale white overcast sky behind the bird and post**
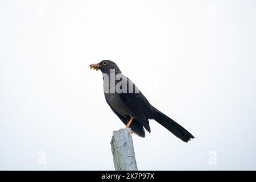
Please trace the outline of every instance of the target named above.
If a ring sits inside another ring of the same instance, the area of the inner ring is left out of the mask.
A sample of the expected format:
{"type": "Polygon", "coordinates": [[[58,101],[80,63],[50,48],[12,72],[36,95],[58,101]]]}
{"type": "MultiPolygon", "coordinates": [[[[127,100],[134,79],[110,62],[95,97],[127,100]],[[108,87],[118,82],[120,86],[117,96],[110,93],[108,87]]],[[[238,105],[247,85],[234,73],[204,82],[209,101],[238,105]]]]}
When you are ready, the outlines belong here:
{"type": "Polygon", "coordinates": [[[139,169],[256,169],[256,1],[0,0],[0,169],[109,169],[102,75],[115,61],[152,105],[139,169]]]}

